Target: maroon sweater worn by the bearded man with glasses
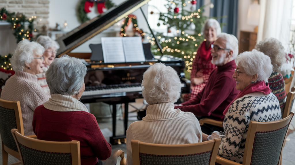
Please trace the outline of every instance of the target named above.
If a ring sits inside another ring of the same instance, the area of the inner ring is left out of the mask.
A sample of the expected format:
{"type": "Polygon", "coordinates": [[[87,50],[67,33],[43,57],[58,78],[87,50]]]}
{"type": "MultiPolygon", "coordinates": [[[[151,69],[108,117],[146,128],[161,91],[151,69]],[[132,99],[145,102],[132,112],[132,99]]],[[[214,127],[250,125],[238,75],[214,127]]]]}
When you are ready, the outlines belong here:
{"type": "Polygon", "coordinates": [[[182,103],[183,106],[176,106],[175,109],[192,112],[195,116],[222,120],[224,109],[239,93],[235,88],[235,79],[232,78],[235,68],[235,60],[217,66],[210,74],[205,88],[196,97],[182,103]]]}

